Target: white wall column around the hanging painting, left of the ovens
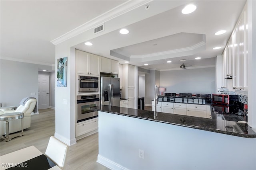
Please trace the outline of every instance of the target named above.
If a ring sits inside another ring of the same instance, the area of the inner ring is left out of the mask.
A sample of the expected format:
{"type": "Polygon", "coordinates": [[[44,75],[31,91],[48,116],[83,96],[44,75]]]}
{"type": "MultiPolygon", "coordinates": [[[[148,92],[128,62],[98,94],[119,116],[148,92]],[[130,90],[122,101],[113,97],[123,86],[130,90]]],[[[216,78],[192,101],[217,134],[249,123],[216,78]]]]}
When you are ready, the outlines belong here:
{"type": "MultiPolygon", "coordinates": [[[[67,145],[73,145],[76,143],[76,52],[68,43],[56,45],[55,62],[63,57],[68,57],[67,86],[56,87],[55,80],[54,136],[67,145]]],[[[57,64],[55,70],[57,75],[57,64]]]]}

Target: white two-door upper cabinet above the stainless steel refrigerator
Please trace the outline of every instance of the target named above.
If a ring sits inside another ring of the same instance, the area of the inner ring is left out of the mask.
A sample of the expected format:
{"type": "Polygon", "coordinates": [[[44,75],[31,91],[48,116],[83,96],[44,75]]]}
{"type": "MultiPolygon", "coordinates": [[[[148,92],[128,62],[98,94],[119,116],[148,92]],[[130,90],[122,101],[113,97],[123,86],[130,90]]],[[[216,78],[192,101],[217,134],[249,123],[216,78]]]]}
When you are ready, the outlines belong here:
{"type": "Polygon", "coordinates": [[[118,61],[108,59],[105,57],[100,58],[100,72],[118,74],[118,61]]]}

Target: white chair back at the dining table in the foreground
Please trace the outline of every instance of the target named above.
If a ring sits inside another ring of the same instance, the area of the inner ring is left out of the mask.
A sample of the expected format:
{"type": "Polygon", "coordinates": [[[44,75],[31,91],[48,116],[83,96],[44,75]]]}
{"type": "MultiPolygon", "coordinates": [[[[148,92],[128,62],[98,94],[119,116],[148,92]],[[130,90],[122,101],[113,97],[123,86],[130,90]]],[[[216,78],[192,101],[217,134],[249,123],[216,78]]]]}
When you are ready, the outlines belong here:
{"type": "Polygon", "coordinates": [[[68,148],[68,145],[59,141],[54,136],[51,136],[45,151],[45,155],[59,168],[63,169],[68,153],[68,148]]]}

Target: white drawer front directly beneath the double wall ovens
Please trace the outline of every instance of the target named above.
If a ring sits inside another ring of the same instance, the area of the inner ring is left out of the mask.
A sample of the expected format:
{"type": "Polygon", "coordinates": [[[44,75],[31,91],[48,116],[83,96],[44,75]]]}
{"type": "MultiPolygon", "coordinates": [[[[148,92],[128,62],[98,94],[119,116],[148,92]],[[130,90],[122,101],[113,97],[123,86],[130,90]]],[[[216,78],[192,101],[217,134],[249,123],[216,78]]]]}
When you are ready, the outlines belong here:
{"type": "Polygon", "coordinates": [[[76,125],[76,137],[98,129],[98,119],[76,125]]]}

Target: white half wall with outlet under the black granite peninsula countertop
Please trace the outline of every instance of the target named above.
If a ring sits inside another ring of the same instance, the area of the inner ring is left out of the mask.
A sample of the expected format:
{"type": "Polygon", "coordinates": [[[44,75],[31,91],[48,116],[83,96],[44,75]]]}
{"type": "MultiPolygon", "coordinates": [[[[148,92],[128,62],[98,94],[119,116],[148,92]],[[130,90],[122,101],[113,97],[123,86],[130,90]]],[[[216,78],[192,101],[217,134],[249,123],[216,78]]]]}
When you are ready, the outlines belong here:
{"type": "Polygon", "coordinates": [[[98,162],[110,169],[255,170],[256,139],[99,112],[98,162]],[[113,123],[114,122],[114,123],[113,123]],[[144,159],[139,158],[144,150],[144,159]]]}

